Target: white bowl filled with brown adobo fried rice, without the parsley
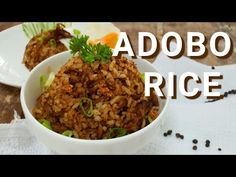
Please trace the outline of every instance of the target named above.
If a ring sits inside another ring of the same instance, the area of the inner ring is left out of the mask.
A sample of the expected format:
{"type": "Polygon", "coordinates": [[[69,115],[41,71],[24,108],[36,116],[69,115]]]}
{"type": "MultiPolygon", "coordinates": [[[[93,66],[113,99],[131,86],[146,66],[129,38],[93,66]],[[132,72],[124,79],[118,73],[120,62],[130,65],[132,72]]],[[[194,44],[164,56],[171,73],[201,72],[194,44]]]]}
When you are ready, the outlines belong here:
{"type": "Polygon", "coordinates": [[[158,133],[168,102],[154,91],[144,96],[144,72],[157,70],[142,59],[88,64],[69,51],[52,56],[21,89],[28,128],[60,154],[135,153],[158,133]]]}

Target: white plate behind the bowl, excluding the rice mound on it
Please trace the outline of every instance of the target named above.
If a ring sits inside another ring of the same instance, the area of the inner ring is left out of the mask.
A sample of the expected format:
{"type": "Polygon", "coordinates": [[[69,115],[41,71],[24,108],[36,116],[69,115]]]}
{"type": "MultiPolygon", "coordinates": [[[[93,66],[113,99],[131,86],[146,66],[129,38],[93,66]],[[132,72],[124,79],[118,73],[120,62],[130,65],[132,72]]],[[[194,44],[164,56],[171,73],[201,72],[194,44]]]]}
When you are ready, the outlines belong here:
{"type": "MultiPolygon", "coordinates": [[[[119,32],[112,23],[72,23],[66,30],[72,32],[79,29],[91,39],[101,38],[110,32],[119,32]]],[[[28,69],[22,64],[25,46],[29,39],[17,25],[0,32],[0,83],[21,87],[29,75],[28,69]]]]}

